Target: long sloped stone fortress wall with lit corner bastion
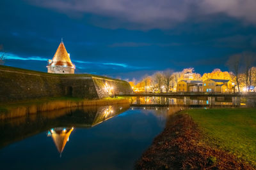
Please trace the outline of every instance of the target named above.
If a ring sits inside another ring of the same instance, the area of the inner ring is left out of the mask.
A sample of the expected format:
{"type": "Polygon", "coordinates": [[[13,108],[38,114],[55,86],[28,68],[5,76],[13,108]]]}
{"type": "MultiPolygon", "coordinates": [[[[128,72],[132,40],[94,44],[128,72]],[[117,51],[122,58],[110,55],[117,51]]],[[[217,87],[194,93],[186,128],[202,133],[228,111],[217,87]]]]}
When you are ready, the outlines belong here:
{"type": "Polygon", "coordinates": [[[51,74],[0,66],[0,102],[40,97],[101,99],[112,94],[132,93],[127,81],[91,74],[51,74]]]}

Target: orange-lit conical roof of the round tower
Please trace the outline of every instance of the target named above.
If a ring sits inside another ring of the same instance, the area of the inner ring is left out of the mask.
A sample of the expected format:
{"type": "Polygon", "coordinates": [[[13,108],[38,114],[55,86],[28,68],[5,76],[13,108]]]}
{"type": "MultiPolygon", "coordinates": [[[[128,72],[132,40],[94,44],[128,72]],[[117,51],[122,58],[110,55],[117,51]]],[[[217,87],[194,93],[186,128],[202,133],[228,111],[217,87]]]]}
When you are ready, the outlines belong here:
{"type": "Polygon", "coordinates": [[[68,67],[75,67],[72,64],[68,52],[65,48],[65,45],[61,39],[61,43],[52,58],[52,62],[48,64],[48,66],[68,66],[68,67]]]}

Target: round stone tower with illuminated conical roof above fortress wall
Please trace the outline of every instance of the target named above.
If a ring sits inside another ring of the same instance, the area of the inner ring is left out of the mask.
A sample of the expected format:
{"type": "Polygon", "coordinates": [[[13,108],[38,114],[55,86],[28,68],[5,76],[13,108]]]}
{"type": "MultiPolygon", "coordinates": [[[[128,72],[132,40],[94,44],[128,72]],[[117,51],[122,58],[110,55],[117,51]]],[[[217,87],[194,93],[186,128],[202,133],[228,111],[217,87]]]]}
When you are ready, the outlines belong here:
{"type": "Polygon", "coordinates": [[[61,39],[61,43],[54,54],[52,60],[48,60],[47,72],[57,74],[74,74],[76,67],[70,60],[70,55],[64,46],[61,39]]]}

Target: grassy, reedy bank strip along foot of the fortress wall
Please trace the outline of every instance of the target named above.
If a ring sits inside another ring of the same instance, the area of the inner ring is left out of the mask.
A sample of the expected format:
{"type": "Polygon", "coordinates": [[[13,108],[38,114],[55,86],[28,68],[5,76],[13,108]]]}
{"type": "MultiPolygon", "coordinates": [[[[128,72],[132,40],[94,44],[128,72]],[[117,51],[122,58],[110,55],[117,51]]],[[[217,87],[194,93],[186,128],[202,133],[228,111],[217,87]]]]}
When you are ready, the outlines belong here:
{"type": "Polygon", "coordinates": [[[0,120],[6,118],[25,117],[42,111],[60,110],[81,106],[106,106],[111,104],[130,103],[128,97],[106,97],[88,100],[75,97],[47,97],[19,102],[0,103],[0,120]]]}

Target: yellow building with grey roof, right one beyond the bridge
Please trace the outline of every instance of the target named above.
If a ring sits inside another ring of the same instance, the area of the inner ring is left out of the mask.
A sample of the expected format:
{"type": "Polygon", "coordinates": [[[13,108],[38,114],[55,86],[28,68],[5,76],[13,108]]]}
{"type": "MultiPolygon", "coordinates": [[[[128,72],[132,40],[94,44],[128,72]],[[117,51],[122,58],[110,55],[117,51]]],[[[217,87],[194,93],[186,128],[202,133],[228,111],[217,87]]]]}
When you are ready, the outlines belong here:
{"type": "Polygon", "coordinates": [[[203,92],[234,92],[235,83],[230,80],[207,79],[203,81],[203,92]]]}

